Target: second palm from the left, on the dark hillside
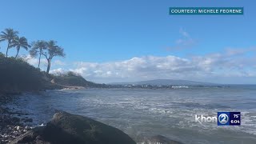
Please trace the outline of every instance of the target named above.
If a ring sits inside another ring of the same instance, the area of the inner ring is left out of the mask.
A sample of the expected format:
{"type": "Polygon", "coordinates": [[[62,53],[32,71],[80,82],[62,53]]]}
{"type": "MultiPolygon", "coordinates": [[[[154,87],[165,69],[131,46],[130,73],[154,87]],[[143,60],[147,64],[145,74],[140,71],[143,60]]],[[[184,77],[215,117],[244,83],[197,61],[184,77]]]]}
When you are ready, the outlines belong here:
{"type": "Polygon", "coordinates": [[[16,54],[15,58],[17,58],[18,52],[21,48],[24,48],[25,50],[28,50],[30,48],[30,45],[28,44],[27,39],[25,37],[19,38],[18,36],[16,38],[14,38],[14,42],[10,46],[16,47],[16,49],[17,49],[17,54],[16,54]]]}

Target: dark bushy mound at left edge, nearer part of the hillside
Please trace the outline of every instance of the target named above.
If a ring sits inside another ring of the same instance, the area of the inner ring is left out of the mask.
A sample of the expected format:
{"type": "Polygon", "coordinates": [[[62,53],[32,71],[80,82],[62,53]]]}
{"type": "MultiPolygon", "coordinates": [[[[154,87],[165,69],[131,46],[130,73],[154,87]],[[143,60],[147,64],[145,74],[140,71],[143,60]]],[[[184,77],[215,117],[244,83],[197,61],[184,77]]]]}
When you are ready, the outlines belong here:
{"type": "Polygon", "coordinates": [[[42,90],[48,82],[45,74],[21,58],[5,58],[0,53],[0,92],[42,90]]]}

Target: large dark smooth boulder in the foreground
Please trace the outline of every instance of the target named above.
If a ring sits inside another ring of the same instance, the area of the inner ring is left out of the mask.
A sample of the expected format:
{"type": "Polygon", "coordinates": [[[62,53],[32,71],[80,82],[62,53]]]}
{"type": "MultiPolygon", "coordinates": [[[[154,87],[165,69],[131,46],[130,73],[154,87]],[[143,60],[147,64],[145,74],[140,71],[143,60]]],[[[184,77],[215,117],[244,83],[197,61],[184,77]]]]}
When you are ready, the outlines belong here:
{"type": "Polygon", "coordinates": [[[54,114],[54,118],[46,126],[34,128],[10,143],[135,144],[136,142],[112,126],[80,115],[59,112],[54,114]]]}

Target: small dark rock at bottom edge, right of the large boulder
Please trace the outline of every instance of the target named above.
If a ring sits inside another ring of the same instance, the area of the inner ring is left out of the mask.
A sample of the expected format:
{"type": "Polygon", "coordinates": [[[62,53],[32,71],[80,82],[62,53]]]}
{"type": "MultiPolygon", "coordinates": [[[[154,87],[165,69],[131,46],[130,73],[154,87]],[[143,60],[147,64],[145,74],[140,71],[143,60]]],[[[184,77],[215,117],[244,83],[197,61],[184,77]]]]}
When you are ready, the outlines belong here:
{"type": "Polygon", "coordinates": [[[146,138],[143,142],[144,144],[182,144],[181,142],[177,142],[174,140],[171,140],[169,138],[166,138],[162,135],[156,135],[150,138],[146,138]]]}

